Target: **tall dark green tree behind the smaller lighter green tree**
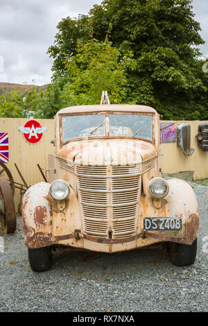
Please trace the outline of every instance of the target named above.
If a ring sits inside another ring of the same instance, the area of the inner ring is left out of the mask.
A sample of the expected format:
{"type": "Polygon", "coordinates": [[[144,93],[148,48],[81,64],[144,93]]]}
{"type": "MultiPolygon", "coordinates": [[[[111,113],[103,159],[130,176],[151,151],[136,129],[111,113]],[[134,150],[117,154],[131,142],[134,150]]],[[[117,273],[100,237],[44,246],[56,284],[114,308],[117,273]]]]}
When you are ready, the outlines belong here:
{"type": "Polygon", "coordinates": [[[112,46],[137,61],[126,76],[125,103],[152,105],[163,119],[207,119],[207,75],[198,49],[204,41],[191,3],[104,0],[89,15],[62,19],[49,48],[53,70],[69,75],[64,62],[78,53],[77,41],[85,44],[93,34],[103,42],[108,35],[112,46]]]}

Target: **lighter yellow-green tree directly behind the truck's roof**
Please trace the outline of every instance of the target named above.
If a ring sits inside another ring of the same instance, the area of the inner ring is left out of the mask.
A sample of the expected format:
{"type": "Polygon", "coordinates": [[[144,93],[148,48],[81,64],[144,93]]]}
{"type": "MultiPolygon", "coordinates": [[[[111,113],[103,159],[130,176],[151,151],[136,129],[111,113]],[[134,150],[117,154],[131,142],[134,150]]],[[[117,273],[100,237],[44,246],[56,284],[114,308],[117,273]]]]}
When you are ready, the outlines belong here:
{"type": "Polygon", "coordinates": [[[68,81],[62,91],[62,106],[99,104],[103,90],[110,95],[111,103],[125,101],[126,71],[136,65],[132,53],[121,57],[107,39],[79,41],[76,55],[65,64],[68,81]]]}

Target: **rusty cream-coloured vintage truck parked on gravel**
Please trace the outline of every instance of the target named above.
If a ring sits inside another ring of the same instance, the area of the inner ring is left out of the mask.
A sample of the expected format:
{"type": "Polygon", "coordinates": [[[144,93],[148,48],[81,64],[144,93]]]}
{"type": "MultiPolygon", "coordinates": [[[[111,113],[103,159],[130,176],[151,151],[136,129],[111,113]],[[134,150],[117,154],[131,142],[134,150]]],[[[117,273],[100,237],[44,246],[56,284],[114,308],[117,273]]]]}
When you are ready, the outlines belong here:
{"type": "Polygon", "coordinates": [[[52,143],[49,182],[30,187],[22,203],[34,271],[51,268],[51,250],[63,246],[119,252],[164,242],[173,264],[194,263],[198,203],[187,182],[161,177],[153,108],[64,108],[55,115],[52,143]]]}

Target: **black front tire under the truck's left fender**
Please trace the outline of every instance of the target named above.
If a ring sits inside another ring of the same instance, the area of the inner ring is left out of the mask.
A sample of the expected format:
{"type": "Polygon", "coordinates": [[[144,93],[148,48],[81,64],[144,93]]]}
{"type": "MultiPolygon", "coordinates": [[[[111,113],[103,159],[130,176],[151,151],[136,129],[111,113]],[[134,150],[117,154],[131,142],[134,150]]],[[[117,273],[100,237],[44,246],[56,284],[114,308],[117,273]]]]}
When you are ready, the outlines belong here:
{"type": "Polygon", "coordinates": [[[52,264],[51,247],[28,248],[28,258],[33,271],[49,271],[52,264]]]}

